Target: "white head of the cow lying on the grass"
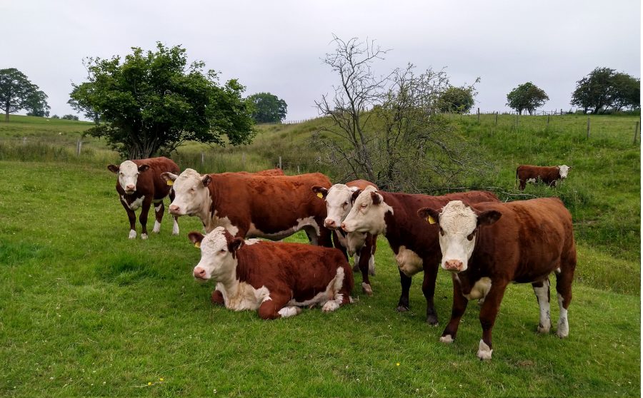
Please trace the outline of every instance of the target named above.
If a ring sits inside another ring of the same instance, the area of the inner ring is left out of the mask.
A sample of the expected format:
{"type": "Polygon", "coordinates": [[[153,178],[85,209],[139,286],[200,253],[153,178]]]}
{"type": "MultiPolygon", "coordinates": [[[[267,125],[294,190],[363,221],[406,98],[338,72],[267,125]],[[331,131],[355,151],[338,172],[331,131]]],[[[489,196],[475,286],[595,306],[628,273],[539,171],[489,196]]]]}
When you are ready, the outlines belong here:
{"type": "Polygon", "coordinates": [[[236,251],[244,245],[243,238],[235,238],[223,227],[214,228],[205,236],[193,231],[188,238],[201,249],[201,260],[192,272],[196,279],[214,279],[218,282],[234,279],[239,262],[236,251]]]}

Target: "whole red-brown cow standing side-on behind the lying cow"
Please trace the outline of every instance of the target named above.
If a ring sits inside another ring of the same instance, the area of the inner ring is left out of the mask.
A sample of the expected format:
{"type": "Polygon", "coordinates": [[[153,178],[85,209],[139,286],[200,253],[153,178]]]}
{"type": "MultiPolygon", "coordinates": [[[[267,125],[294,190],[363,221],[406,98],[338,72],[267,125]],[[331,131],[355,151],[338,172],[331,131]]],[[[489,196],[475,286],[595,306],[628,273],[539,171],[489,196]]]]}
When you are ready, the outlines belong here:
{"type": "Polygon", "coordinates": [[[174,182],[169,212],[199,217],[206,233],[224,227],[241,238],[281,240],[304,230],[311,243],[332,246],[324,228],[326,206],[311,191],[314,185],[330,187],[326,175],[201,175],[187,168],[163,177],[174,182]]]}

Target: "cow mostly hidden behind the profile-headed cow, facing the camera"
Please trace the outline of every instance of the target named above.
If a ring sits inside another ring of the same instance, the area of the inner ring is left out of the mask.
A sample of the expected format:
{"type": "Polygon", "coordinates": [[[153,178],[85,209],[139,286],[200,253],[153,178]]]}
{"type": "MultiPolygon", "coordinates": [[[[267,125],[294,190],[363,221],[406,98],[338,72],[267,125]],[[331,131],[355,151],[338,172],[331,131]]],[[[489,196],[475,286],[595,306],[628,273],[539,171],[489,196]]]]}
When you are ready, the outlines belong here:
{"type": "Polygon", "coordinates": [[[362,291],[367,295],[373,295],[369,274],[375,275],[375,250],[377,235],[369,233],[344,233],[339,228],[344,218],[353,207],[352,195],[357,190],[364,190],[377,185],[367,180],[354,180],[346,184],[335,184],[331,188],[314,186],[313,192],[326,201],[327,216],[324,226],[337,233],[339,244],[348,250],[350,256],[355,256],[353,271],[362,272],[362,291]]]}

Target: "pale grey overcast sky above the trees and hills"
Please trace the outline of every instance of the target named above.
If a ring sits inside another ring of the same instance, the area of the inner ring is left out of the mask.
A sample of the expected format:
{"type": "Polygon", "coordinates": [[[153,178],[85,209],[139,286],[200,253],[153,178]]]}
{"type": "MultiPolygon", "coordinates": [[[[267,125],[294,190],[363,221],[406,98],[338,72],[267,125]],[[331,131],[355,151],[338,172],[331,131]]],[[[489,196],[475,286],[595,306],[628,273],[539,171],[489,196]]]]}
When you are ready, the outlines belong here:
{"type": "Polygon", "coordinates": [[[314,101],[338,78],[321,62],[344,40],[392,49],[380,74],[411,62],[445,68],[451,83],[481,78],[476,106],[509,111],[507,93],[532,81],[544,110],[568,110],[576,81],[597,66],[640,77],[639,0],[574,1],[170,1],[0,0],[0,68],[18,68],[49,96],[51,114],[74,113],[82,59],[181,44],[190,61],[238,78],[245,95],[268,91],[286,119],[317,116],[314,101]]]}

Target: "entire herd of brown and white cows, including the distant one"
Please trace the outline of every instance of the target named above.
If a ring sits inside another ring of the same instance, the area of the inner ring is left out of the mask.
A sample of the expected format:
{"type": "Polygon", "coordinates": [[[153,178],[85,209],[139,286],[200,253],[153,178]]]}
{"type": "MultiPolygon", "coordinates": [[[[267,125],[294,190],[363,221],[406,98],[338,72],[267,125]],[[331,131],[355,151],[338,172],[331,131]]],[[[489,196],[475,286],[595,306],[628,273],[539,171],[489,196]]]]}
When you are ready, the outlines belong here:
{"type": "MultiPolygon", "coordinates": [[[[451,319],[440,341],[453,342],[469,300],[480,300],[482,340],[477,357],[491,359],[492,329],[510,282],[531,283],[540,307],[537,332],[548,333],[549,275],[556,275],[557,335],[569,335],[576,248],[572,216],[557,198],[501,203],[486,191],[431,196],[389,193],[365,180],[332,185],[326,175],[284,175],[281,169],[257,173],[200,174],[168,158],[126,160],[109,165],[119,175],[116,191],[136,238],[141,208],[141,238],[147,239],[147,213],[154,203],[159,233],[163,199],[174,217],[196,216],[203,235],[189,233],[201,250],[192,271],[197,280],[214,280],[215,304],[231,310],[257,310],[262,319],[298,315],[302,307],[324,312],[352,302],[353,271],[362,274],[362,291],[372,295],[378,235],[391,246],[402,293],[397,310],[409,310],[412,276],[424,271],[426,320],[438,325],[434,295],[439,267],[452,276],[451,319]],[[311,245],[281,240],[304,230],[311,245]],[[333,248],[334,246],[334,248],[333,248]],[[354,269],[349,265],[354,256],[354,269]]],[[[527,182],[555,186],[569,166],[520,165],[519,188],[527,182]]]]}

